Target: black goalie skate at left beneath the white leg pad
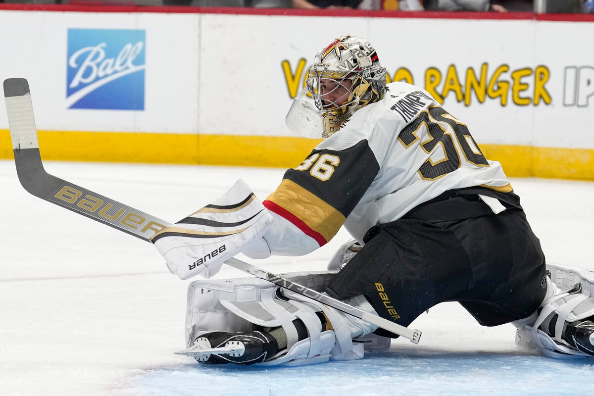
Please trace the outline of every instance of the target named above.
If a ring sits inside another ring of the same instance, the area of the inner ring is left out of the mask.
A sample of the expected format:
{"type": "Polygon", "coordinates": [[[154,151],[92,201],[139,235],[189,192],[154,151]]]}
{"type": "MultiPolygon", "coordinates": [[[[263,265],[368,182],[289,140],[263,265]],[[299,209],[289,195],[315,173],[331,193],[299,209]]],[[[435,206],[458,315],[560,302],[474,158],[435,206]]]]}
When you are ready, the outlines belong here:
{"type": "Polygon", "coordinates": [[[264,362],[279,349],[274,337],[266,332],[208,332],[196,338],[194,344],[175,354],[194,357],[198,362],[221,365],[235,363],[252,365],[264,362]]]}

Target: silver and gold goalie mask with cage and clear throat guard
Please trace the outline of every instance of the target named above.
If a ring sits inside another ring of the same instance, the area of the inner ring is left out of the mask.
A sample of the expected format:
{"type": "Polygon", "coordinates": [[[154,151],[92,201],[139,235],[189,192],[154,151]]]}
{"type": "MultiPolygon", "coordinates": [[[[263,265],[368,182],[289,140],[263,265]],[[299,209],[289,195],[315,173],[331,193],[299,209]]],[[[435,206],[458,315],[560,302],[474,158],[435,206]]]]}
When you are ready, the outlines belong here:
{"type": "Polygon", "coordinates": [[[285,121],[298,135],[327,138],[356,110],[380,100],[384,91],[386,68],[371,43],[341,36],[315,55],[306,86],[293,100],[285,121]]]}

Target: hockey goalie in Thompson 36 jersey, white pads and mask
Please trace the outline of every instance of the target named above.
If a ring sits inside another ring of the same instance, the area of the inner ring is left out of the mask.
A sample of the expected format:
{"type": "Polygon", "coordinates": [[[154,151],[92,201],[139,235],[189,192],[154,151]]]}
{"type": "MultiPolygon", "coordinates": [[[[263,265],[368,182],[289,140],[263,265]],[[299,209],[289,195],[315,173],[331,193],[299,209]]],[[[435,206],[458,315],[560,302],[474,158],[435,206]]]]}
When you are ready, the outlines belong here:
{"type": "MultiPolygon", "coordinates": [[[[594,356],[592,273],[546,267],[500,163],[424,89],[386,85],[371,43],[341,36],[318,52],[286,124],[324,140],[264,201],[239,181],[154,235],[173,273],[304,255],[345,226],[353,240],[327,271],[286,277],[405,327],[457,301],[481,325],[513,323],[520,346],[594,356]]],[[[212,364],[359,359],[396,337],[257,278],[191,283],[186,327],[191,356],[212,364]]]]}

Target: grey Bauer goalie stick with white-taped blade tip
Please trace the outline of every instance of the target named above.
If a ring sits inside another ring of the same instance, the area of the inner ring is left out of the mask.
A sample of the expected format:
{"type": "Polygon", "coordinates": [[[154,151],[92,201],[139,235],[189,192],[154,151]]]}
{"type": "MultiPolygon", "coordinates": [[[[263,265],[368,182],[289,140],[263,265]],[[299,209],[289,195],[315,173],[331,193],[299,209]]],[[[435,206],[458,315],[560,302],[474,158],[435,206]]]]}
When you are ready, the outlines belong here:
{"type": "MultiPolygon", "coordinates": [[[[150,242],[149,238],[154,233],[170,225],[168,221],[47,173],[43,168],[39,152],[29,83],[24,78],[8,78],[4,81],[4,97],[14,150],[14,162],[17,167],[18,179],[24,189],[36,197],[52,202],[52,204],[67,208],[147,242],[150,242]]],[[[413,344],[418,344],[419,338],[421,338],[419,330],[411,330],[378,315],[365,312],[308,287],[261,270],[247,262],[230,258],[225,261],[225,264],[317,300],[331,308],[356,316],[384,330],[402,335],[413,344]]]]}

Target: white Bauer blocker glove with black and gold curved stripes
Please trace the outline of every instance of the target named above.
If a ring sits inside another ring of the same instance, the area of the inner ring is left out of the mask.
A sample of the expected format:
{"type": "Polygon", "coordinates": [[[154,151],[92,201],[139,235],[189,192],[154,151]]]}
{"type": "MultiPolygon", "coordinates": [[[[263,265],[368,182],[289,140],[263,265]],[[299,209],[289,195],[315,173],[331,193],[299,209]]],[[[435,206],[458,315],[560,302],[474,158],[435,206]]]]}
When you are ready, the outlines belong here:
{"type": "Polygon", "coordinates": [[[222,197],[151,237],[169,270],[181,279],[210,278],[270,226],[272,216],[244,180],[222,197]]]}

